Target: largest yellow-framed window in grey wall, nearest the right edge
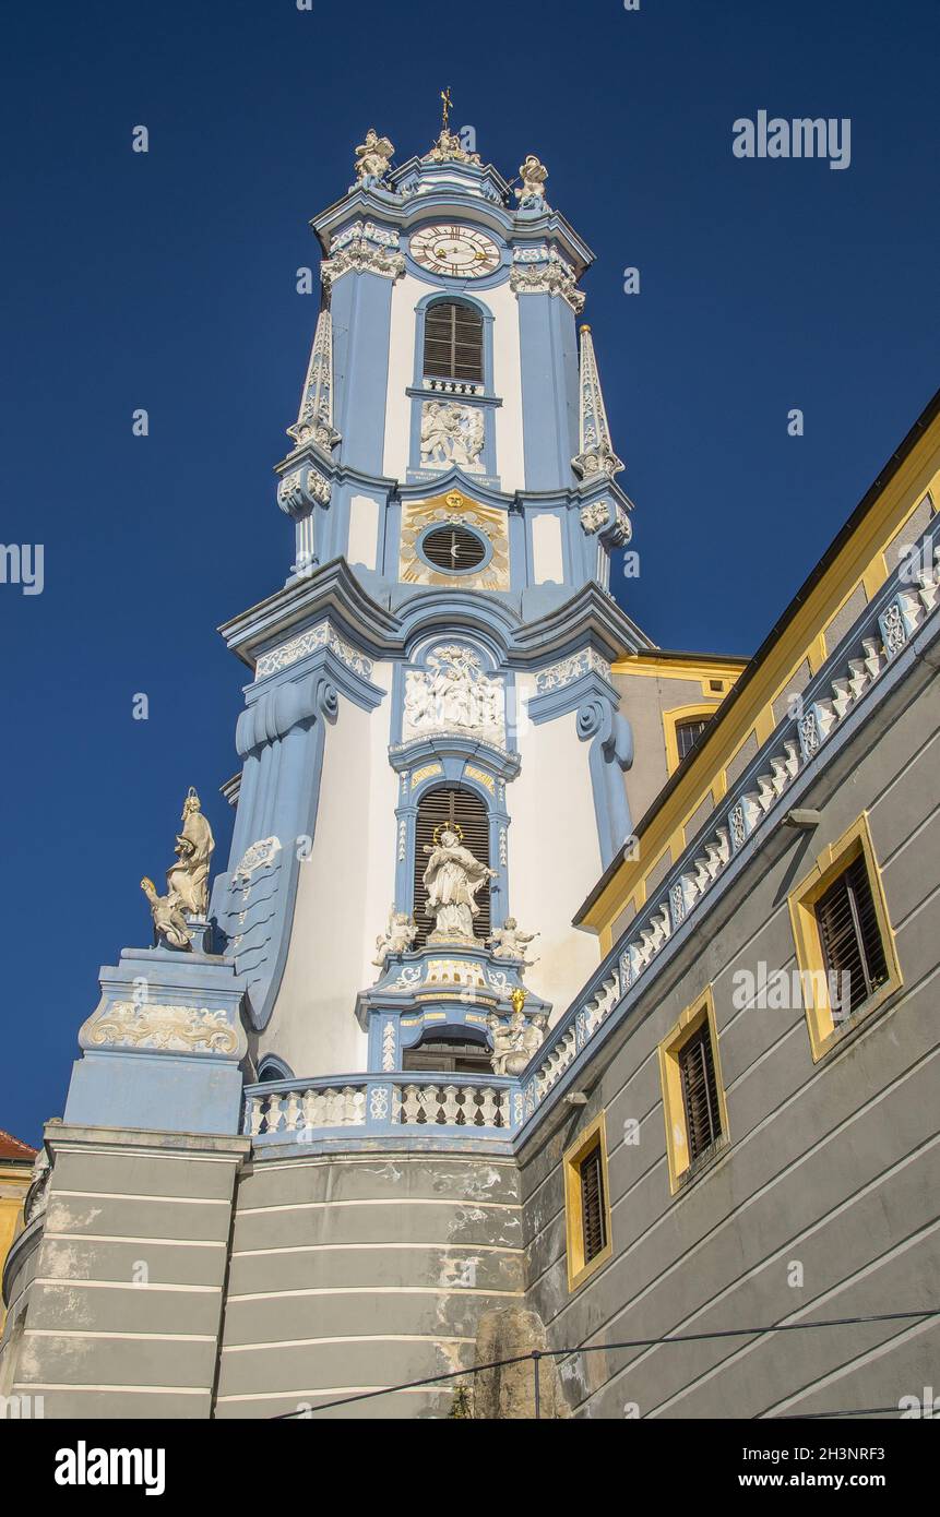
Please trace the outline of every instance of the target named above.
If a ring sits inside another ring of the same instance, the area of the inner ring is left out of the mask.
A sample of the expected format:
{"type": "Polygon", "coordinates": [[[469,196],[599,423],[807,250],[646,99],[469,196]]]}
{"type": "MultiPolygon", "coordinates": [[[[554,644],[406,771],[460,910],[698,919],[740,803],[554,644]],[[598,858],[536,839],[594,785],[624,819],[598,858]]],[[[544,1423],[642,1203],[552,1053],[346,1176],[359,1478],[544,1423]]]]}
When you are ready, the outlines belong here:
{"type": "Polygon", "coordinates": [[[788,897],[814,1060],[902,985],[869,815],[829,843],[788,897]]]}

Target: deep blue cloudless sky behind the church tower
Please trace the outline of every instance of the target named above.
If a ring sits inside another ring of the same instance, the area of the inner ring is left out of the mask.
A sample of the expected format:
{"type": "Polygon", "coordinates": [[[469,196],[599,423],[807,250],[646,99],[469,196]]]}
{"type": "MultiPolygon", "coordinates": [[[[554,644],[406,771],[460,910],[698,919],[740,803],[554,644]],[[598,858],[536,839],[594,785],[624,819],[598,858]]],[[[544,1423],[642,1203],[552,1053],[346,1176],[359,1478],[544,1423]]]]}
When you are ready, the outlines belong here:
{"type": "Polygon", "coordinates": [[[0,1127],[35,1142],[97,965],[149,941],[138,880],[188,784],[228,857],[243,680],[214,628],[290,563],[270,469],[316,320],[295,270],[364,129],[425,152],[449,83],[484,159],[544,158],[598,255],[629,610],[665,646],[749,652],[937,385],[940,9],[44,0],[5,30],[0,537],[46,545],[46,589],[0,586],[0,1127]],[[735,159],[761,108],[850,117],[850,168],[735,159]]]}

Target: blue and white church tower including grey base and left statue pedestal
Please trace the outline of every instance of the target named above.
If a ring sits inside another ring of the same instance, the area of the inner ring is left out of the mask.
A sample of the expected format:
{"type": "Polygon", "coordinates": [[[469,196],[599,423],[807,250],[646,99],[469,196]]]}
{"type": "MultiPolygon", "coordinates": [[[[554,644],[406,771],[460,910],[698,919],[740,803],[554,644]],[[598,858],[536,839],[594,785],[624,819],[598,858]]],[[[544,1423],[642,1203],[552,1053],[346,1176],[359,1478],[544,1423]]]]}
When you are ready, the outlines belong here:
{"type": "Polygon", "coordinates": [[[513,1144],[620,988],[573,918],[667,780],[665,686],[699,716],[729,687],[610,593],[633,507],[547,170],[513,191],[446,111],[392,152],[369,130],[313,221],[293,555],[222,628],[228,868],[190,790],[47,1127],[3,1374],[49,1415],[293,1415],[460,1368],[522,1299],[513,1144]]]}

